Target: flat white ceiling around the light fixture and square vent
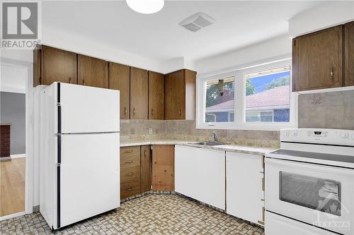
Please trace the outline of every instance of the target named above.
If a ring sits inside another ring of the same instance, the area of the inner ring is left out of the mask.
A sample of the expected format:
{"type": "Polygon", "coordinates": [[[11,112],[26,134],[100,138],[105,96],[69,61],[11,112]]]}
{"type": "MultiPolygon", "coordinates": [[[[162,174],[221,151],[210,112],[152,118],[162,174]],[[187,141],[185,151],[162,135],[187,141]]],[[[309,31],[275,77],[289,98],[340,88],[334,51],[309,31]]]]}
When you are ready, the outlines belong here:
{"type": "Polygon", "coordinates": [[[198,60],[288,32],[288,20],[321,1],[166,1],[155,14],[125,1],[44,1],[42,30],[72,33],[149,59],[198,60]],[[214,25],[189,32],[181,20],[202,11],[214,25]]]}

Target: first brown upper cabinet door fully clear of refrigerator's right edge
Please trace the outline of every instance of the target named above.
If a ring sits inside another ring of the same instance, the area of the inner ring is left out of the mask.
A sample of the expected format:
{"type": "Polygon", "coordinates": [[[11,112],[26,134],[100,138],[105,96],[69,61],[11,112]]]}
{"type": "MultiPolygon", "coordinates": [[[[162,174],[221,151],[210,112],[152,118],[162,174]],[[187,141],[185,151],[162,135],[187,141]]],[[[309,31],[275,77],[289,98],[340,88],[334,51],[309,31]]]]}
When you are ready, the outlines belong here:
{"type": "Polygon", "coordinates": [[[130,119],[147,119],[148,89],[147,70],[130,67],[130,119]]]}

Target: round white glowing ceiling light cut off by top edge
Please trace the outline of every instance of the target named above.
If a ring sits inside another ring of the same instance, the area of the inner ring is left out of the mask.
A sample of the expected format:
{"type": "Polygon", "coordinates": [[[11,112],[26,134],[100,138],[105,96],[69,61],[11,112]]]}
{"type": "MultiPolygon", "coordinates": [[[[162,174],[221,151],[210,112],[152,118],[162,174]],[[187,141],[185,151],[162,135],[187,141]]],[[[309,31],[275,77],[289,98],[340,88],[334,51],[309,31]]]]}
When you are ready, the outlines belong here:
{"type": "Polygon", "coordinates": [[[152,14],[164,7],[164,0],[127,0],[132,10],[143,14],[152,14]]]}

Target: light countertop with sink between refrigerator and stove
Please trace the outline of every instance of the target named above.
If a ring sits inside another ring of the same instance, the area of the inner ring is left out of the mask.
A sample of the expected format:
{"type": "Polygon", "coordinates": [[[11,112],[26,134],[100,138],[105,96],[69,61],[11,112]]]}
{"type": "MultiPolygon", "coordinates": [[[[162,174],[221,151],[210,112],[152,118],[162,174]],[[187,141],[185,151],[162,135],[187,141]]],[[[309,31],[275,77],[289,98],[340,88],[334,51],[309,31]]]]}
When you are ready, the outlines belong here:
{"type": "Polygon", "coordinates": [[[122,141],[120,147],[128,146],[138,146],[138,145],[183,145],[190,147],[200,147],[210,150],[220,150],[226,152],[241,152],[251,155],[265,155],[267,152],[272,152],[275,149],[267,147],[256,147],[256,146],[242,146],[242,145],[215,145],[215,146],[205,146],[205,145],[195,145],[196,142],[193,141],[182,141],[182,140],[137,140],[137,141],[122,141]]]}

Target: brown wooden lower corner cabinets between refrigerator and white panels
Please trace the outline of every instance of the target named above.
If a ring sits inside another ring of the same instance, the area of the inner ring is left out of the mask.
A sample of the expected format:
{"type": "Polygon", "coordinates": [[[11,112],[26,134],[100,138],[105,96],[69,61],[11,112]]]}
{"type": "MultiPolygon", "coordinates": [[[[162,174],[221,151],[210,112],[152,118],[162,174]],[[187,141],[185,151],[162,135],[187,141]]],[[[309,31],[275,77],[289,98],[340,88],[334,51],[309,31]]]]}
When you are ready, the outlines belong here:
{"type": "Polygon", "coordinates": [[[120,199],[174,191],[174,145],[120,147],[120,199]]]}

